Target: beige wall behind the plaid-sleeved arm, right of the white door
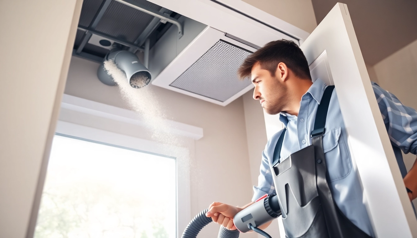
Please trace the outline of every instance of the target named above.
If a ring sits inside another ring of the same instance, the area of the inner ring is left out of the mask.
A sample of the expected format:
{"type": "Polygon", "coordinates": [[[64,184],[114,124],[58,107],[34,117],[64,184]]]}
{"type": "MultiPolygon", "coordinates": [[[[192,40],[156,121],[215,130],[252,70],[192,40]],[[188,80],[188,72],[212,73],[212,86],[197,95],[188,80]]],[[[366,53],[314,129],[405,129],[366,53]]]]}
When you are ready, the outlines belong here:
{"type": "MultiPolygon", "coordinates": [[[[404,104],[417,109],[417,40],[374,65],[377,83],[404,104]]],[[[409,170],[416,156],[404,155],[409,170]]]]}

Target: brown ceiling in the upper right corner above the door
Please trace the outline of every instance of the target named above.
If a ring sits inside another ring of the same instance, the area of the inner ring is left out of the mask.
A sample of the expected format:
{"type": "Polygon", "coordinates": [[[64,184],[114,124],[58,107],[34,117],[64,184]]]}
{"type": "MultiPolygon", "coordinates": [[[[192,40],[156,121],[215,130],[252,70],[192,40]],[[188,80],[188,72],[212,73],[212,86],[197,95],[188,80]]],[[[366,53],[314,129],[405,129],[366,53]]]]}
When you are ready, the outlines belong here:
{"type": "MultiPolygon", "coordinates": [[[[337,0],[311,0],[317,24],[337,0]]],[[[374,65],[417,39],[416,0],[343,0],[367,65],[374,65]]]]}

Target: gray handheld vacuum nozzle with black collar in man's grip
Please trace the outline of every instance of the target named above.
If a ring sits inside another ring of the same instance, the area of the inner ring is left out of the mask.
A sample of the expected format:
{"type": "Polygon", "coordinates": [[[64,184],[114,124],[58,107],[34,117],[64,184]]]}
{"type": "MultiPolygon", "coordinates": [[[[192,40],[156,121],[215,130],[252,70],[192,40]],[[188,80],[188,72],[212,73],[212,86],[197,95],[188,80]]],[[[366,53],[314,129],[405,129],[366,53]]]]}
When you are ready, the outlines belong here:
{"type": "Polygon", "coordinates": [[[252,230],[250,227],[258,227],[281,215],[278,196],[275,194],[256,200],[256,203],[237,213],[233,222],[240,232],[252,230]]]}

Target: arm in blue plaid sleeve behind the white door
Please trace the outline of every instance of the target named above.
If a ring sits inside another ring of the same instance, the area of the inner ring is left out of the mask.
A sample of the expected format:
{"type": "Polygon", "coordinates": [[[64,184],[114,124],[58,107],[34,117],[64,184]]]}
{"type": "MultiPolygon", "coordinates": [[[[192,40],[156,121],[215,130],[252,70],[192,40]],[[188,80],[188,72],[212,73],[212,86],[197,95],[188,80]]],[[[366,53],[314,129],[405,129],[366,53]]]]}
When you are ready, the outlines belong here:
{"type": "MultiPolygon", "coordinates": [[[[372,85],[379,110],[387,127],[391,142],[404,153],[417,153],[417,112],[403,105],[395,95],[377,84],[372,85]]],[[[404,184],[410,200],[417,198],[417,162],[404,177],[404,184]]]]}

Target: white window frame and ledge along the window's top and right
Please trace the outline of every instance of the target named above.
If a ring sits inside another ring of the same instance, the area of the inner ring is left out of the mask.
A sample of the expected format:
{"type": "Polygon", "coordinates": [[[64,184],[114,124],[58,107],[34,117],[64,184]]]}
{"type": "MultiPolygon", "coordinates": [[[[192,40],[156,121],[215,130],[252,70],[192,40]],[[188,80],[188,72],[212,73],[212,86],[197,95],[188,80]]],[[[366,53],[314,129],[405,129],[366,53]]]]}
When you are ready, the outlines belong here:
{"type": "Polygon", "coordinates": [[[159,143],[143,136],[146,132],[146,122],[138,119],[136,113],[131,110],[64,94],[55,135],[174,158],[176,237],[179,238],[191,220],[190,163],[194,157],[194,141],[203,137],[203,129],[171,120],[166,120],[166,123],[171,129],[169,133],[183,140],[180,145],[159,143]],[[97,123],[98,121],[100,123],[97,123]],[[127,127],[133,128],[136,133],[126,133],[127,127]],[[161,151],[169,151],[169,154],[161,151]],[[185,155],[188,157],[185,158],[185,155]]]}

